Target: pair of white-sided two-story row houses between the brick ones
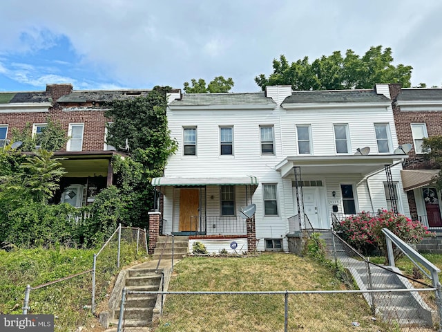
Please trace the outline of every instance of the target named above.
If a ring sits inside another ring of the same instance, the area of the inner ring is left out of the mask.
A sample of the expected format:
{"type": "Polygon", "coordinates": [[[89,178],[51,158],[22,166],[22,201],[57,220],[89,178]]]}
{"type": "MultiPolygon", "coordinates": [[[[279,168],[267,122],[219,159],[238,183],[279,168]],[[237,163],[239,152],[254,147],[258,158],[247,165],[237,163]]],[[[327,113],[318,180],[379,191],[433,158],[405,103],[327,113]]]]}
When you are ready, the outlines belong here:
{"type": "Polygon", "coordinates": [[[268,86],[184,94],[167,117],[178,150],[152,182],[163,195],[164,234],[240,243],[242,251],[255,237],[257,250],[287,250],[299,221],[329,229],[332,214],[391,208],[385,165],[393,165],[398,212],[409,214],[400,176],[406,156],[393,153],[392,104],[382,92],[268,86]],[[249,224],[240,211],[252,204],[249,224]]]}

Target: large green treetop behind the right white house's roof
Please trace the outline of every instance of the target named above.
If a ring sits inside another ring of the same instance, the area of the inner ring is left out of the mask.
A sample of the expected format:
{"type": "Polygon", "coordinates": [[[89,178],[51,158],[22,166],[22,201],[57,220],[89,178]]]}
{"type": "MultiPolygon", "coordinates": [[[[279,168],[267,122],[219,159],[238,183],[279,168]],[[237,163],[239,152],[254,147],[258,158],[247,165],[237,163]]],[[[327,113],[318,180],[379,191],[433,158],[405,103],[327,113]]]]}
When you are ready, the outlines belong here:
{"type": "Polygon", "coordinates": [[[289,64],[285,55],[273,59],[273,73],[261,74],[255,82],[262,91],[269,85],[291,85],[293,90],[372,89],[376,83],[399,83],[410,87],[412,66],[392,64],[392,49],[372,46],[360,57],[348,49],[309,62],[308,57],[289,64]]]}

